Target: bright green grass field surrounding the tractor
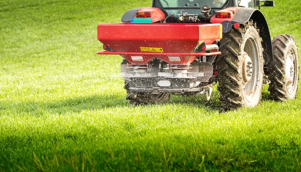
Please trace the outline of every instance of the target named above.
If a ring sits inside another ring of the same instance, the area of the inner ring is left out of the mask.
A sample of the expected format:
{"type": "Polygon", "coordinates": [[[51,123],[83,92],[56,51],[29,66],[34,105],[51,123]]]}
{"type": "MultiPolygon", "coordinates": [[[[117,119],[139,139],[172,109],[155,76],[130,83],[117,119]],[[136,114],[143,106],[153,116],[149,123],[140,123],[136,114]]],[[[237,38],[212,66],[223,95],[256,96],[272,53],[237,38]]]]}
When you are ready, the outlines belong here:
{"type": "MultiPolygon", "coordinates": [[[[301,1],[262,7],[301,47],[301,1]]],[[[129,106],[99,23],[151,0],[0,1],[0,171],[301,171],[301,96],[220,111],[219,93],[129,106]]],[[[301,51],[298,51],[301,54],[301,51]]],[[[300,94],[300,91],[298,91],[300,94]]]]}

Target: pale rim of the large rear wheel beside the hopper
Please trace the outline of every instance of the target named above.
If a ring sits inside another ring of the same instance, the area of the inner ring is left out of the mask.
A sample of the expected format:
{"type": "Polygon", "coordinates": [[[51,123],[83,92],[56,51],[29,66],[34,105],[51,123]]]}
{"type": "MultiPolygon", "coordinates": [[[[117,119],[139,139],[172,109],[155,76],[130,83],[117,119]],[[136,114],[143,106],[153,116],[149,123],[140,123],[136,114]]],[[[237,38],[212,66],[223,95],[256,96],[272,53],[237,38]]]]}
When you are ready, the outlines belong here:
{"type": "Polygon", "coordinates": [[[258,91],[261,91],[258,88],[261,75],[260,58],[254,37],[246,39],[242,55],[243,94],[247,101],[253,102],[257,98],[258,91]]]}

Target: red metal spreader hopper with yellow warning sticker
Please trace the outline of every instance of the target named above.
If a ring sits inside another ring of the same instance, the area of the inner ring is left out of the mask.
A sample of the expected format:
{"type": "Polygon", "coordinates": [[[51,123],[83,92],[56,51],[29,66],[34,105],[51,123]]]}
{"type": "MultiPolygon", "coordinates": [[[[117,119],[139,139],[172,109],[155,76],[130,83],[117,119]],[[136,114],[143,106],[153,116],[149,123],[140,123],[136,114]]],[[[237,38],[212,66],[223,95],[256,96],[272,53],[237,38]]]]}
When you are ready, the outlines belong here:
{"type": "Polygon", "coordinates": [[[133,63],[147,63],[157,57],[169,63],[189,64],[196,56],[181,55],[180,62],[168,60],[167,55],[160,53],[193,53],[199,41],[212,44],[220,37],[221,24],[188,24],[188,23],[117,23],[99,24],[98,40],[133,63]],[[141,48],[142,47],[142,48],[141,48]],[[145,52],[143,48],[155,48],[145,52]],[[162,49],[156,51],[156,49],[162,49]],[[143,61],[131,61],[130,55],[122,52],[145,53],[143,61]],[[157,55],[157,53],[158,55],[157,55]]]}

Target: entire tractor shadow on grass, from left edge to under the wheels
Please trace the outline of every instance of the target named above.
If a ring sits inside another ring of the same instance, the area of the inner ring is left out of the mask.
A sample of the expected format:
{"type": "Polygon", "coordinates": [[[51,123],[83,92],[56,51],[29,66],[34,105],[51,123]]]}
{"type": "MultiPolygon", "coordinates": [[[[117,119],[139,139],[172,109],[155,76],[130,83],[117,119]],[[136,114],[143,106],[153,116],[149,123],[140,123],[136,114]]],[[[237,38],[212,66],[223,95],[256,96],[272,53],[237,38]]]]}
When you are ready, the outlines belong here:
{"type": "MultiPolygon", "coordinates": [[[[219,113],[225,112],[222,103],[219,100],[219,91],[214,90],[211,99],[206,101],[201,94],[182,96],[173,95],[167,102],[174,104],[187,104],[187,106],[194,106],[202,108],[206,111],[218,111],[219,113]]],[[[269,100],[269,91],[262,92],[262,100],[269,100]]],[[[165,104],[165,103],[161,103],[165,104]]],[[[107,95],[92,95],[81,96],[69,99],[64,99],[54,102],[0,102],[1,114],[34,114],[43,116],[45,113],[65,114],[70,112],[80,112],[83,110],[97,110],[109,107],[122,107],[130,106],[123,94],[107,94],[107,95]]],[[[144,105],[141,105],[144,106],[144,105]]]]}

